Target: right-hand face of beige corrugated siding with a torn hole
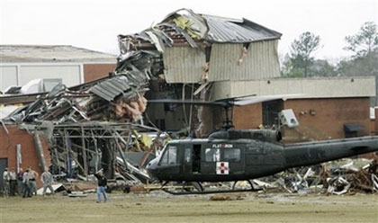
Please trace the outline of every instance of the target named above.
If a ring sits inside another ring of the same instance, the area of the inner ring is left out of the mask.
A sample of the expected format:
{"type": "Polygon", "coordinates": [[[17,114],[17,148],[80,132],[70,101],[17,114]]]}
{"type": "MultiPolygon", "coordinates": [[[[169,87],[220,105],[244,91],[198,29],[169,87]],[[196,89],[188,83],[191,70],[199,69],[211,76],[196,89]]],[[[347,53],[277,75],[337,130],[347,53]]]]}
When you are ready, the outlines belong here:
{"type": "Polygon", "coordinates": [[[243,44],[214,43],[211,48],[209,81],[256,80],[280,76],[278,40],[252,42],[239,66],[243,44]]]}

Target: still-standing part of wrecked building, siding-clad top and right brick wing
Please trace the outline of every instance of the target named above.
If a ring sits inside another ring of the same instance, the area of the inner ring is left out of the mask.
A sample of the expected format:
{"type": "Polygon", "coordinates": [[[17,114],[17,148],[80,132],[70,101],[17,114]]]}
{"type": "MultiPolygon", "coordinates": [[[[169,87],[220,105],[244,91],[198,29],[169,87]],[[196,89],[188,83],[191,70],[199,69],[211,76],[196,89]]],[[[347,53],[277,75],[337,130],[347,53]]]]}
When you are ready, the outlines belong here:
{"type": "MultiPolygon", "coordinates": [[[[293,141],[371,134],[367,102],[375,94],[374,77],[280,78],[280,37],[281,33],[244,18],[182,9],[154,28],[120,35],[119,42],[121,56],[150,54],[148,99],[214,101],[255,95],[270,102],[235,107],[237,129],[277,126],[278,112],[292,108],[301,122],[296,132],[286,133],[293,141]],[[272,96],[277,99],[269,99],[272,96]]],[[[221,127],[221,112],[150,104],[145,122],[171,131],[197,130],[198,137],[206,137],[221,127]]]]}

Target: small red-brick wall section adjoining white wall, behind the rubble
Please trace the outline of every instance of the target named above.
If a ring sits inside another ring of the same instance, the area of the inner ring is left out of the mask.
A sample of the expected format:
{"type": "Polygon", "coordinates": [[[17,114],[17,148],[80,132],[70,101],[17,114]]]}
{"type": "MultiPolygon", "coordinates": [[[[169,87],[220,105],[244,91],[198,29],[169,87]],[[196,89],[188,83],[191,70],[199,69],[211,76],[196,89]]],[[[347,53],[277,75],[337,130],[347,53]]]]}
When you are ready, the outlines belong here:
{"type": "Polygon", "coordinates": [[[108,76],[115,68],[115,64],[85,64],[84,81],[93,81],[103,76],[108,76]]]}

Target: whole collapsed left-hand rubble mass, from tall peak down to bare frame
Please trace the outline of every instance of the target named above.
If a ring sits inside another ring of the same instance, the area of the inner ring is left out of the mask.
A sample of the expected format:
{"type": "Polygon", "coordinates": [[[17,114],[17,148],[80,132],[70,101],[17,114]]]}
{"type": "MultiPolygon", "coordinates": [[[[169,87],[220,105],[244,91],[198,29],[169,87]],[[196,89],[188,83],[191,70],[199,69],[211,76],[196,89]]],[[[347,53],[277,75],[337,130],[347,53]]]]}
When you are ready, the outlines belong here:
{"type": "MultiPolygon", "coordinates": [[[[145,183],[149,176],[139,167],[156,145],[152,140],[147,144],[139,132],[159,131],[141,120],[151,74],[148,61],[153,56],[150,52],[130,52],[121,55],[110,76],[70,88],[56,85],[5,117],[4,128],[17,124],[21,129],[43,133],[49,139],[49,168],[61,179],[88,181],[103,168],[109,179],[145,183]],[[139,142],[139,137],[144,140],[139,142]],[[140,165],[131,165],[125,156],[129,151],[147,155],[142,156],[140,165]]],[[[42,169],[45,164],[40,159],[42,169]]]]}

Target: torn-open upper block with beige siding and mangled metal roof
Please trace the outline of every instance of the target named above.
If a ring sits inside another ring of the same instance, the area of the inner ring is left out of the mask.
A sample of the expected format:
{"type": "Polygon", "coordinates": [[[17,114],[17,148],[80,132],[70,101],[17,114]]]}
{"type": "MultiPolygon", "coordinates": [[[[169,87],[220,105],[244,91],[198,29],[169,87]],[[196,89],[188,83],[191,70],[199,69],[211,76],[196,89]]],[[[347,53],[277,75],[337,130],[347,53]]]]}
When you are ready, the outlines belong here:
{"type": "Polygon", "coordinates": [[[169,84],[278,77],[281,35],[244,18],[180,9],[154,27],[119,35],[119,59],[149,53],[143,61],[150,65],[150,78],[169,84]]]}

